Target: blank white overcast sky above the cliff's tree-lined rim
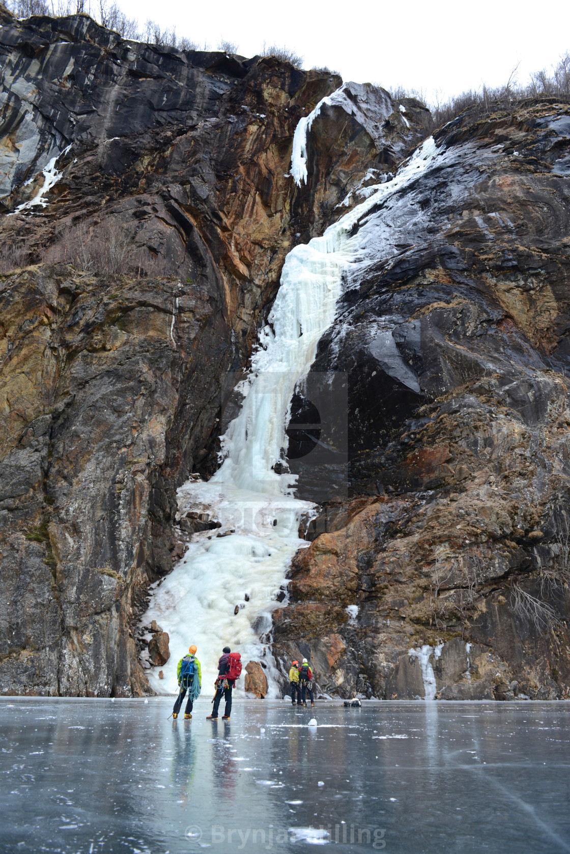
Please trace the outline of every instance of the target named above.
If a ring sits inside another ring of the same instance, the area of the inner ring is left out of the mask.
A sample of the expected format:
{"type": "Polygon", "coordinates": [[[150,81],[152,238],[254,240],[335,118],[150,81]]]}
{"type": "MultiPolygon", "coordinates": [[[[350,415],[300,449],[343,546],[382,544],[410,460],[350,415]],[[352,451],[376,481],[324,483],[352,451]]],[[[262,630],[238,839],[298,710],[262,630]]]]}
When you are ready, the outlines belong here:
{"type": "Polygon", "coordinates": [[[502,85],[520,62],[518,79],[549,68],[570,50],[570,0],[119,0],[141,24],[176,27],[215,49],[220,38],[242,56],[265,41],[304,57],[303,67],[326,65],[344,80],[423,91],[429,102],[482,83],[502,85]]]}

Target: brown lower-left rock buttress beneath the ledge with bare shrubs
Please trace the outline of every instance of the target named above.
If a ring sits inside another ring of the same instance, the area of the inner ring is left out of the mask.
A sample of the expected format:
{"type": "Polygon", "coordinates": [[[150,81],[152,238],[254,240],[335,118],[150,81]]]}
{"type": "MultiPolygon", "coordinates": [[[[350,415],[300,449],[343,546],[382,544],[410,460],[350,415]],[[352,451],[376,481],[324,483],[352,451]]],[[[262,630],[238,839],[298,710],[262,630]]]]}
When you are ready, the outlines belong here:
{"type": "Polygon", "coordinates": [[[220,326],[196,287],[67,266],[6,278],[0,298],[3,690],[140,692],[129,615],[176,547],[167,432],[182,409],[203,442],[216,405],[192,388],[203,357],[216,364],[220,326]]]}

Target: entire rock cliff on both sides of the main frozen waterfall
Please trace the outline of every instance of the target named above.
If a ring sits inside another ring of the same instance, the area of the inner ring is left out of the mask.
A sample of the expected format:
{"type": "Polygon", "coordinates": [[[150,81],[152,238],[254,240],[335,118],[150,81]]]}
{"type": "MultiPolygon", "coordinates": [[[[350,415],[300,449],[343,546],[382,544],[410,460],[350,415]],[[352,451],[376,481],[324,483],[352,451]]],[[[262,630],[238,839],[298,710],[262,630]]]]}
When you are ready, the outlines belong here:
{"type": "MultiPolygon", "coordinates": [[[[285,255],[429,117],[346,85],[298,187],[337,75],[0,17],[0,691],[147,693],[176,488],[214,471],[285,255]]],[[[567,696],[568,113],[461,115],[361,224],[311,378],[347,378],[320,425],[344,463],[291,459],[321,506],[274,613],[284,672],[306,655],[325,693],[567,696]]]]}

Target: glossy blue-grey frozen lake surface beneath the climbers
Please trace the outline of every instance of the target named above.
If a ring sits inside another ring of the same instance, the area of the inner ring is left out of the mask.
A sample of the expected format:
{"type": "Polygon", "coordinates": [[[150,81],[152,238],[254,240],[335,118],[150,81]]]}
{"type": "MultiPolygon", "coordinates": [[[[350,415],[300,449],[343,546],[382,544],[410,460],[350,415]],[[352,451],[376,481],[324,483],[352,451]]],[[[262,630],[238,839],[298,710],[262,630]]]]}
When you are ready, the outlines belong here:
{"type": "Polygon", "coordinates": [[[0,849],[570,851],[570,703],[172,705],[1,699],[0,849]]]}

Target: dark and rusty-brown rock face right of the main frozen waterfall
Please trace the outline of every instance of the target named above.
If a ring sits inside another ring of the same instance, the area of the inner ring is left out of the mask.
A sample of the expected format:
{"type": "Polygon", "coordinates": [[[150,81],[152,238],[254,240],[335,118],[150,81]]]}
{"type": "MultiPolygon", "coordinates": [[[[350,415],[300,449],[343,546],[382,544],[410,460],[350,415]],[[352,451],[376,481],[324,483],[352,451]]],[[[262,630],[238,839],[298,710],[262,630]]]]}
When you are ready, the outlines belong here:
{"type": "Polygon", "coordinates": [[[361,226],[314,371],[349,377],[367,499],[309,527],[276,617],[279,655],[329,692],[422,697],[421,646],[442,698],[570,690],[567,112],[455,120],[361,226]]]}

